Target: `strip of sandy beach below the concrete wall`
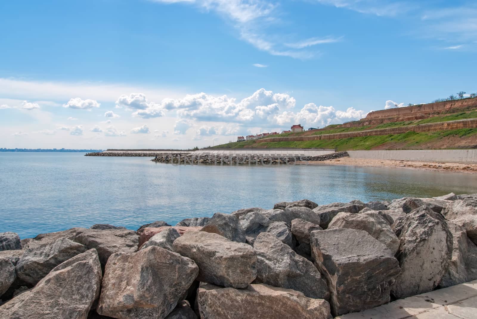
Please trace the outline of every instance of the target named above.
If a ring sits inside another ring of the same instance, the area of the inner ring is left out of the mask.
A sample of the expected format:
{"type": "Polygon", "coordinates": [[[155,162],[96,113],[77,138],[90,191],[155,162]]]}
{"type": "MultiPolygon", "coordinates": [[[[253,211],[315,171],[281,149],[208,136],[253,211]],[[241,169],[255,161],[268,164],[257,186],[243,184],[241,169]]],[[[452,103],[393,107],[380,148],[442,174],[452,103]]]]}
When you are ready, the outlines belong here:
{"type": "Polygon", "coordinates": [[[363,158],[342,157],[322,162],[309,162],[309,165],[354,165],[373,167],[399,167],[430,171],[462,172],[477,174],[477,164],[446,163],[446,162],[420,162],[420,161],[394,161],[363,158]]]}

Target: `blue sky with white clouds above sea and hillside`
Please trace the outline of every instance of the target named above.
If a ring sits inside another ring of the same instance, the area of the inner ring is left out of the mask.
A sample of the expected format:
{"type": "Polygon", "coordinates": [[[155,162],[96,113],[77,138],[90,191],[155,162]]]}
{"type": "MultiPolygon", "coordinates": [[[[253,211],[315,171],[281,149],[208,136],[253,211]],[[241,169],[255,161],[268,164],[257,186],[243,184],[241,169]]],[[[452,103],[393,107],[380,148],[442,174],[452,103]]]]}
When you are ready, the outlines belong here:
{"type": "Polygon", "coordinates": [[[0,3],[0,147],[207,146],[477,92],[477,3],[0,3]]]}

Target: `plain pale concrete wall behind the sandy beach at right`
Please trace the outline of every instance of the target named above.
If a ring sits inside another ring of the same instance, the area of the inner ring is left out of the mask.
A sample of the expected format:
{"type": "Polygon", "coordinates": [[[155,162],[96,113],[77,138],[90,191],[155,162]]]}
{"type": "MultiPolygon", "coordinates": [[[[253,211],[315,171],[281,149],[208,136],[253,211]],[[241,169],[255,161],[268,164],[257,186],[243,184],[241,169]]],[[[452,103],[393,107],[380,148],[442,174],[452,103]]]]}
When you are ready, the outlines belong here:
{"type": "Polygon", "coordinates": [[[477,150],[348,151],[351,158],[477,163],[477,150]]]}

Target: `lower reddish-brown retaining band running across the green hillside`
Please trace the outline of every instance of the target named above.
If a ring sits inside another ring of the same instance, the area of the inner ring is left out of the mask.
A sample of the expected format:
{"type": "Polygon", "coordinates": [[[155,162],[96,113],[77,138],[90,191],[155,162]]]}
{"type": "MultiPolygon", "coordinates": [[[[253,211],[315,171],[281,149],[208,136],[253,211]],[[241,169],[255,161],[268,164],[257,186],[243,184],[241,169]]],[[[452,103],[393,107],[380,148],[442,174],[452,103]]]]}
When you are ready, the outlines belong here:
{"type": "Polygon", "coordinates": [[[404,134],[410,131],[437,132],[437,131],[458,130],[458,129],[464,129],[464,128],[477,128],[477,119],[429,123],[429,124],[387,128],[387,129],[380,129],[380,130],[366,130],[366,131],[349,132],[349,133],[321,134],[321,135],[310,135],[310,136],[270,137],[270,138],[260,139],[259,142],[334,140],[334,139],[349,138],[349,137],[404,134]]]}

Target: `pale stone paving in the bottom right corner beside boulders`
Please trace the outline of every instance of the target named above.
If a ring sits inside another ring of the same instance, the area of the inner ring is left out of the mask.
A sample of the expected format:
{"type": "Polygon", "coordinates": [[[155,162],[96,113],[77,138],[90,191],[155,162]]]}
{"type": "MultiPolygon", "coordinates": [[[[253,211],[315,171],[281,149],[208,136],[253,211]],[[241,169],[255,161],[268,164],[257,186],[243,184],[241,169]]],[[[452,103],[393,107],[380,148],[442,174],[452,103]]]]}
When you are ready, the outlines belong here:
{"type": "Polygon", "coordinates": [[[339,319],[477,319],[477,280],[353,312],[339,319]]]}

